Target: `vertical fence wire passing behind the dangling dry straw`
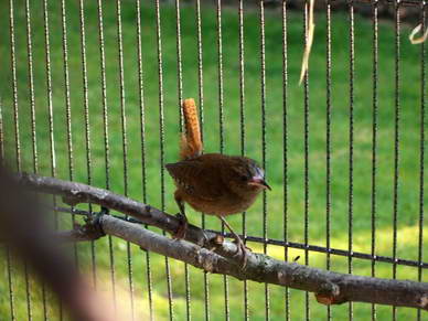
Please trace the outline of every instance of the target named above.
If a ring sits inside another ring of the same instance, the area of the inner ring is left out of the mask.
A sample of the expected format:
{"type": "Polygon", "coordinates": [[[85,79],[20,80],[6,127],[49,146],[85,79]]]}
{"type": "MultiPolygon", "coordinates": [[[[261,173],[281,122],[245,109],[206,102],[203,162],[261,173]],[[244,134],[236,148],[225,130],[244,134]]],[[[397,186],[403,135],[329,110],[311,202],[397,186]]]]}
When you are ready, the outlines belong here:
{"type": "MultiPolygon", "coordinates": [[[[306,1],[304,6],[304,14],[303,14],[303,36],[304,36],[304,45],[308,43],[308,22],[309,19],[309,2],[306,1]]],[[[308,69],[304,73],[303,78],[304,85],[304,109],[303,109],[303,130],[304,130],[304,140],[303,140],[303,149],[304,149],[304,265],[309,265],[309,250],[308,250],[308,238],[309,238],[309,73],[308,69]]],[[[306,320],[310,320],[310,306],[309,306],[309,293],[304,292],[304,313],[306,320]]]]}

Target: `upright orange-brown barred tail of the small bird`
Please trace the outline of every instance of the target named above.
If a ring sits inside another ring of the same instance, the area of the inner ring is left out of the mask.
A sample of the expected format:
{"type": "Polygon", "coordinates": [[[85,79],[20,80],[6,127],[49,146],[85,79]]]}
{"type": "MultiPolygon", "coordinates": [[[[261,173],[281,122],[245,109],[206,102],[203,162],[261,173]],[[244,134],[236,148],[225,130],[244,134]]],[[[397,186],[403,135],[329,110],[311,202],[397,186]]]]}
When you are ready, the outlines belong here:
{"type": "Polygon", "coordinates": [[[197,157],[202,153],[202,140],[200,121],[196,113],[196,104],[193,98],[183,100],[183,115],[185,133],[181,137],[180,158],[182,160],[197,157]]]}

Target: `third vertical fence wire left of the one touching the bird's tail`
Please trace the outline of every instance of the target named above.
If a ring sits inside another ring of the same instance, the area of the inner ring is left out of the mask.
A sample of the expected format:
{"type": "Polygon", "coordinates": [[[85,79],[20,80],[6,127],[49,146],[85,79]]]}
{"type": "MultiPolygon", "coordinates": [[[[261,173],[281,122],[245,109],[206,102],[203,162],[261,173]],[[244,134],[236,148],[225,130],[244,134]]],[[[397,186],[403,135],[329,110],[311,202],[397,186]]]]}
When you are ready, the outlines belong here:
{"type": "MultiPolygon", "coordinates": [[[[127,118],[125,105],[125,81],[124,81],[124,45],[121,30],[121,0],[116,1],[116,19],[117,19],[117,45],[118,45],[118,63],[119,63],[119,87],[120,87],[120,120],[122,135],[122,157],[124,157],[124,193],[128,196],[128,138],[127,138],[127,118]]],[[[127,265],[128,265],[128,282],[129,282],[129,299],[131,306],[131,318],[135,320],[133,304],[133,280],[132,280],[132,256],[130,243],[127,242],[127,265]]]]}

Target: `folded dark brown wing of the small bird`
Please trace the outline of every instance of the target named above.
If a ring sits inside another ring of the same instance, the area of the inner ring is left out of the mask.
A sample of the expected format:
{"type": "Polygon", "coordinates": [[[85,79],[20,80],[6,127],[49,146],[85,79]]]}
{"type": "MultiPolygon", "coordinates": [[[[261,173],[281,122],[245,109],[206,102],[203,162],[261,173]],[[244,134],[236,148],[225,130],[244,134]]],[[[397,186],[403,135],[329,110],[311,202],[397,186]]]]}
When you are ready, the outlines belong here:
{"type": "Polygon", "coordinates": [[[223,195],[221,172],[197,160],[185,160],[165,165],[176,185],[186,193],[215,201],[223,195]]]}

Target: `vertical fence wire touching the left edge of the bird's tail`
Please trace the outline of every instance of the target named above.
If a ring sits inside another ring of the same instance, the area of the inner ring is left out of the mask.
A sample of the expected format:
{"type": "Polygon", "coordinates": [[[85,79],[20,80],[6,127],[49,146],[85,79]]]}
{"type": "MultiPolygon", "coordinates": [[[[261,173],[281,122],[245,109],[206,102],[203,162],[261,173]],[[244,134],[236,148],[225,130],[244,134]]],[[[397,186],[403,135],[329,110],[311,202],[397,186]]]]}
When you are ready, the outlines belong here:
{"type": "MultiPolygon", "coordinates": [[[[178,83],[178,97],[179,97],[179,113],[180,113],[180,132],[183,131],[184,118],[181,109],[181,103],[183,100],[183,69],[182,69],[182,55],[181,55],[181,17],[180,17],[180,0],[175,0],[175,22],[176,22],[176,83],[178,83]]],[[[189,265],[184,263],[184,282],[185,282],[185,310],[186,320],[191,320],[191,292],[190,292],[190,276],[189,265]]]]}

